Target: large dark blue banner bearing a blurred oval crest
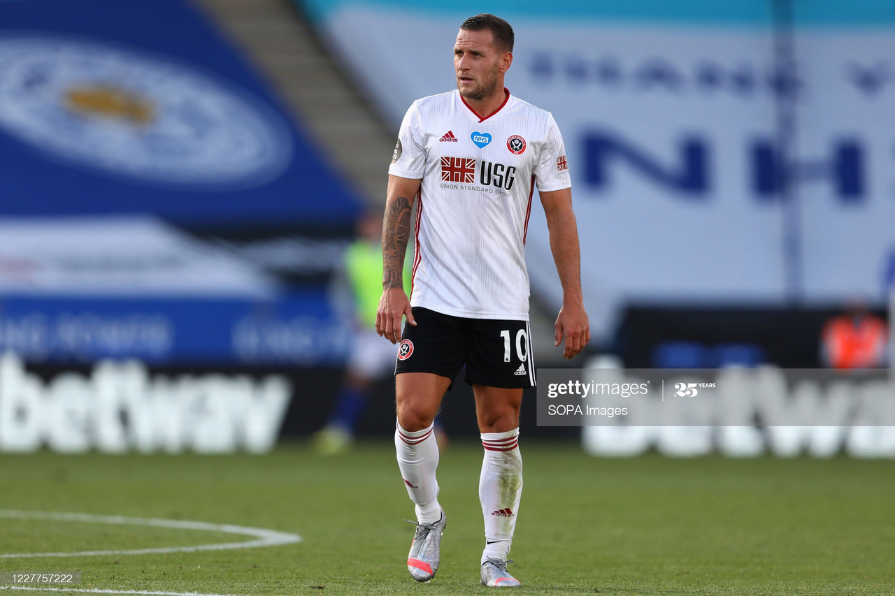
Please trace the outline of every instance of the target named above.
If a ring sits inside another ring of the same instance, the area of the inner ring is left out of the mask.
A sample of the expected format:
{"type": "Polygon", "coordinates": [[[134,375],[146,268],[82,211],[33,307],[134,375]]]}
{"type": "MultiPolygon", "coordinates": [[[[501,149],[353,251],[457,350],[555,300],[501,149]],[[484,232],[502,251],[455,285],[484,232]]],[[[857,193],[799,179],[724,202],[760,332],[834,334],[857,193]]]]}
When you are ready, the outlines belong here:
{"type": "MultiPolygon", "coordinates": [[[[386,160],[385,163],[388,163],[386,160]]],[[[0,2],[0,215],[350,221],[358,200],[184,0],[0,2]]]]}

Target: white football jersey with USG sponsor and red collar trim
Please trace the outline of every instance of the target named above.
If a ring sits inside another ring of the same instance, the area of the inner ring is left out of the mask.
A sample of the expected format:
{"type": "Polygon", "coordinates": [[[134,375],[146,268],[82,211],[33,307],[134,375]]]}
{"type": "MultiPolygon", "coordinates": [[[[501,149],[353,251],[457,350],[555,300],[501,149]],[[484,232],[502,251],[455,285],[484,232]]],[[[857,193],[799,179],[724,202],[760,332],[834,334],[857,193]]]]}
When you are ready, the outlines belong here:
{"type": "Polygon", "coordinates": [[[527,320],[524,244],[534,185],[572,185],[550,112],[508,91],[484,119],[457,90],[417,99],[401,123],[388,174],[422,178],[411,305],[471,319],[527,320]]]}

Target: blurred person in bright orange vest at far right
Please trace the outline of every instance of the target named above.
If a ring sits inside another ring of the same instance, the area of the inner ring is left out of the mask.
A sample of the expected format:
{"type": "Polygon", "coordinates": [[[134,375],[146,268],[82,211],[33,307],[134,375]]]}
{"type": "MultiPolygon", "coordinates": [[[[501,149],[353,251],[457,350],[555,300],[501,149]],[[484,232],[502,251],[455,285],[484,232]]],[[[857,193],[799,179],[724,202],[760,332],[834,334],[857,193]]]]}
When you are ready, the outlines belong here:
{"type": "Polygon", "coordinates": [[[823,326],[821,360],[831,369],[878,369],[886,365],[886,322],[853,301],[823,326]]]}

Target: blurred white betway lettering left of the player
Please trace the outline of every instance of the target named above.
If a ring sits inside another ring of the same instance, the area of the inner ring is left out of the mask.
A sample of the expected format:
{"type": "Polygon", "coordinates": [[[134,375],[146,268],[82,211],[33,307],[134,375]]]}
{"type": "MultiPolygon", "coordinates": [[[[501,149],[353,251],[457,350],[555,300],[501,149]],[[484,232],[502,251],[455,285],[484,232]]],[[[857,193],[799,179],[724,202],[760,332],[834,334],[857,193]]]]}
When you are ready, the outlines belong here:
{"type": "Polygon", "coordinates": [[[136,361],[43,379],[0,355],[0,452],[268,451],[292,398],[282,375],[150,374],[136,361]]]}

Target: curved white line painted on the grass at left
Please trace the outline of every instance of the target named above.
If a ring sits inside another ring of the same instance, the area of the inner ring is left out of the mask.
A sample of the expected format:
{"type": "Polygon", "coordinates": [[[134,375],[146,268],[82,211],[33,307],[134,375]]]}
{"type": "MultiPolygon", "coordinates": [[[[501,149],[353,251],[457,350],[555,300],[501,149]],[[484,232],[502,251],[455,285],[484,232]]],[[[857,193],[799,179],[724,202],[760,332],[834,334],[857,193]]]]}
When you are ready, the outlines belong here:
{"type": "MultiPolygon", "coordinates": [[[[28,557],[97,557],[100,555],[149,555],[170,552],[198,552],[200,550],[226,550],[226,549],[256,549],[259,547],[278,546],[281,544],[293,544],[301,542],[302,537],[288,532],[277,532],[264,528],[249,528],[242,525],[231,524],[206,524],[204,522],[189,522],[173,519],[154,519],[151,517],[124,517],[121,515],[90,515],[78,513],[52,513],[42,511],[14,511],[0,509],[0,517],[8,519],[39,519],[57,522],[86,522],[88,524],[117,524],[117,525],[144,525],[157,528],[175,528],[177,530],[203,530],[206,532],[226,532],[241,536],[252,536],[255,540],[243,542],[221,542],[217,544],[199,544],[183,547],[160,547],[157,549],[131,549],[131,550],[81,550],[80,552],[24,552],[0,554],[0,558],[28,558],[28,557]]],[[[3,587],[3,586],[0,586],[3,587]]],[[[8,588],[7,588],[8,589],[8,588]]],[[[70,592],[79,592],[71,590],[70,592]]],[[[84,591],[80,592],[95,592],[84,591]]],[[[107,592],[107,591],[102,591],[107,592]]],[[[109,592],[115,594],[171,594],[175,592],[109,592]]],[[[192,594],[193,592],[186,592],[192,594]]],[[[202,595],[210,596],[210,595],[202,595]]]]}

